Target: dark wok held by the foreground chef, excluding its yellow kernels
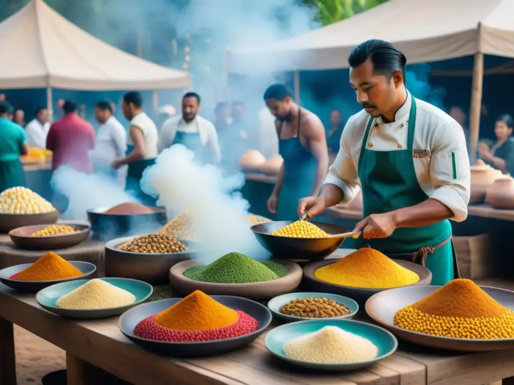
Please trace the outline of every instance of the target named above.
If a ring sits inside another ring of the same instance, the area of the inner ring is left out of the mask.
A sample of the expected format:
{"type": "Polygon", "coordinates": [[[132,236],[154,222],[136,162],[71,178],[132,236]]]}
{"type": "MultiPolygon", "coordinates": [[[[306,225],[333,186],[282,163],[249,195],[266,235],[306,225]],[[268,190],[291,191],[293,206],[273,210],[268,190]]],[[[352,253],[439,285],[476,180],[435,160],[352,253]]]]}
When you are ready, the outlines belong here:
{"type": "MultiPolygon", "coordinates": [[[[259,223],[251,228],[259,243],[273,255],[274,259],[319,260],[332,254],[343,243],[344,238],[291,238],[271,235],[272,232],[293,223],[294,221],[278,221],[259,223]]],[[[323,222],[314,222],[327,234],[346,233],[346,227],[323,222]]]]}

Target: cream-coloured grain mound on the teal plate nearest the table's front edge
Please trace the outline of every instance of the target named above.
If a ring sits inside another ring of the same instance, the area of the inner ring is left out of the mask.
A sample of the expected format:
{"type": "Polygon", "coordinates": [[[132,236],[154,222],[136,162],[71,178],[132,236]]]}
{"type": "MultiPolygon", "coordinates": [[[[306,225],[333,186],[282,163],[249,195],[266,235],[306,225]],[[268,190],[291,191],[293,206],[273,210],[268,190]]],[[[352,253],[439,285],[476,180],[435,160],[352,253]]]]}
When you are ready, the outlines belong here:
{"type": "Polygon", "coordinates": [[[366,338],[348,333],[337,326],[325,326],[315,333],[286,342],[284,353],[301,361],[350,363],[375,358],[378,348],[366,338]]]}

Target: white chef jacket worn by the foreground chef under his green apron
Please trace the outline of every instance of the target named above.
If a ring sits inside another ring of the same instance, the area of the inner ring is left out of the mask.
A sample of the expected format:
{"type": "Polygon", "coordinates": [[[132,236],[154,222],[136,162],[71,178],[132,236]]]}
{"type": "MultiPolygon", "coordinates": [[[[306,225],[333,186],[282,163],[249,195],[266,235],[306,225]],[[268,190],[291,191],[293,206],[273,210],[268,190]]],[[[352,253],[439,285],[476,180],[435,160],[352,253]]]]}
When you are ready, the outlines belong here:
{"type": "MultiPolygon", "coordinates": [[[[470,195],[470,166],[464,131],[447,113],[416,99],[416,126],[413,159],[419,186],[428,197],[438,200],[453,211],[454,221],[467,218],[470,195]],[[425,157],[419,157],[422,150],[425,157]],[[428,151],[429,152],[428,152],[428,151]],[[425,151],[425,152],[423,152],[425,151]]],[[[377,118],[364,138],[371,118],[365,110],[353,115],[346,123],[334,164],[329,167],[325,184],[335,184],[344,192],[343,202],[350,202],[360,189],[358,176],[362,141],[372,151],[401,151],[407,148],[408,120],[411,96],[396,112],[395,121],[384,123],[377,118]]]]}

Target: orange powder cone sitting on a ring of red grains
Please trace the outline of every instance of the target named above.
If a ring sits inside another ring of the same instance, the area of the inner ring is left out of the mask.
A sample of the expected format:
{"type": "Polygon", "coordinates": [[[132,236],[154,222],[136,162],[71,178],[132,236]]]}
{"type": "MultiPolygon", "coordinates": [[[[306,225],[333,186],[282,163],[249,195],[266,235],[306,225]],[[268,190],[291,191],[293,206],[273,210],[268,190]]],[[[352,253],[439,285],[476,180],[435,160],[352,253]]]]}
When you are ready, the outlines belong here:
{"type": "Polygon", "coordinates": [[[155,323],[175,330],[216,330],[237,322],[235,310],[194,291],[155,317],[155,323]]]}

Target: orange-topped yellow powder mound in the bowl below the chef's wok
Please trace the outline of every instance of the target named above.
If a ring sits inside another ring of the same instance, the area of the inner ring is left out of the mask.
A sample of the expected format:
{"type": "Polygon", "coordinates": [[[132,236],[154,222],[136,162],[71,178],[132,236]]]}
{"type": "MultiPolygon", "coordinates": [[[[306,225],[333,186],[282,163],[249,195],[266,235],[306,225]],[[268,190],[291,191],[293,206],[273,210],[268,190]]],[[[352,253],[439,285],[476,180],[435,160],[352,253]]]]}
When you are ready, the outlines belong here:
{"type": "Polygon", "coordinates": [[[365,288],[391,288],[419,281],[416,273],[370,247],[359,248],[335,263],[316,269],[314,276],[336,285],[365,288]]]}

